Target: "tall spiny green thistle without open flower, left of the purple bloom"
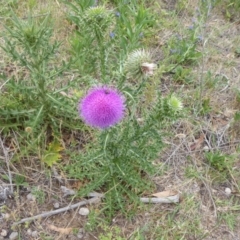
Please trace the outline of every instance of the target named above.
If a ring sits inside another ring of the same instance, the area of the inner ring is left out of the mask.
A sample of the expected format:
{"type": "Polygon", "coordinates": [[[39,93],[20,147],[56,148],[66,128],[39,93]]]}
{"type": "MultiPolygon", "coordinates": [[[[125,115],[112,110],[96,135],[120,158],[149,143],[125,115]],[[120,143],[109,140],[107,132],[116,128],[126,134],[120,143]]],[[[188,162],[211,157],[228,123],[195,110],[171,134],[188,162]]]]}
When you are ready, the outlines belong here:
{"type": "Polygon", "coordinates": [[[11,24],[6,26],[5,44],[1,47],[24,74],[19,74],[19,79],[4,76],[8,100],[3,100],[2,126],[17,122],[39,133],[39,129],[47,126],[58,128],[62,119],[66,119],[66,113],[70,119],[76,118],[74,102],[61,94],[70,84],[61,87],[59,81],[70,62],[56,64],[54,59],[58,56],[60,44],[52,41],[52,33],[49,16],[19,19],[13,14],[11,24]]]}

